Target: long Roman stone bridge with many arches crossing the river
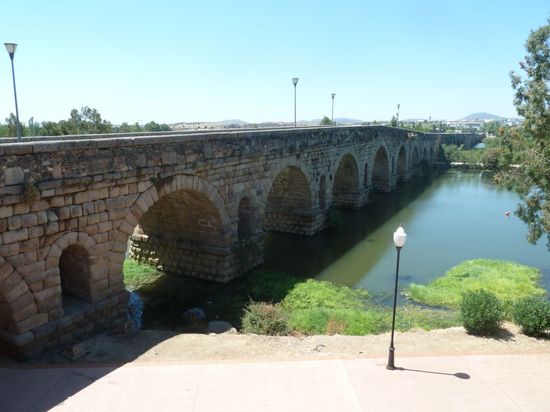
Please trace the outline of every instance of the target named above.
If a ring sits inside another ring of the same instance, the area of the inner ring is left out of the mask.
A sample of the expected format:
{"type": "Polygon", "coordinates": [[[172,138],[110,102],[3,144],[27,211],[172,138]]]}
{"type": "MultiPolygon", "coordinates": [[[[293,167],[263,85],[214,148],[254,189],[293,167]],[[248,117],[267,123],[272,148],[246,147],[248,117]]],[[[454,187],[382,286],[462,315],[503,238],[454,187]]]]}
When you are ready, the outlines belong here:
{"type": "Polygon", "coordinates": [[[313,235],[434,162],[383,126],[73,136],[0,144],[0,344],[15,356],[124,319],[126,253],[227,282],[264,231],[313,235]]]}

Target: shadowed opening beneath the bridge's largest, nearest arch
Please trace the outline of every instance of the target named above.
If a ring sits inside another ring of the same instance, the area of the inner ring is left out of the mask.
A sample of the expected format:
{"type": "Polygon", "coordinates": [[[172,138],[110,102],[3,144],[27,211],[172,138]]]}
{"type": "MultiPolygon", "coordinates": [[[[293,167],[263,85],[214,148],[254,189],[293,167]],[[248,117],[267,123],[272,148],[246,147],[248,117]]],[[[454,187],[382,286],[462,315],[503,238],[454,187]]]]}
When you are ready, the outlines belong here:
{"type": "Polygon", "coordinates": [[[183,189],[161,197],[145,212],[130,237],[129,254],[167,273],[226,281],[234,270],[230,249],[212,201],[202,192],[183,189]]]}

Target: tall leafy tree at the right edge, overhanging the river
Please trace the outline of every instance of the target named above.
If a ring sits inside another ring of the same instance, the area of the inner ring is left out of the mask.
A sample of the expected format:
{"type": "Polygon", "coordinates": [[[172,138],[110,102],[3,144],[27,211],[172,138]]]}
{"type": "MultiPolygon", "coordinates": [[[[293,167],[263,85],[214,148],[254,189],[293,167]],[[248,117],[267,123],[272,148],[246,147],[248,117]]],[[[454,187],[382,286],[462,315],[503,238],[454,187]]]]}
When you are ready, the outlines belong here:
{"type": "Polygon", "coordinates": [[[546,233],[550,249],[550,19],[530,33],[525,47],[523,76],[510,73],[514,104],[524,121],[504,132],[502,157],[508,167],[497,178],[519,192],[516,214],[527,223],[529,240],[546,233]]]}

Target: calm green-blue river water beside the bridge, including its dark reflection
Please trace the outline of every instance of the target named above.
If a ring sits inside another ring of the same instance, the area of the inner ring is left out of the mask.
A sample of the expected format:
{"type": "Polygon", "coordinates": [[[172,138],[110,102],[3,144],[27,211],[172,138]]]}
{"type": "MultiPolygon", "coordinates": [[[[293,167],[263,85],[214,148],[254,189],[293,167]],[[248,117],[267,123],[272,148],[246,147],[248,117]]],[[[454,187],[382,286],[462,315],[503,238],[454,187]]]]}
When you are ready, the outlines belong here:
{"type": "Polygon", "coordinates": [[[526,226],[513,213],[518,196],[494,185],[490,174],[448,171],[370,200],[361,210],[339,211],[338,227],[312,238],[268,234],[263,268],[389,295],[396,263],[392,235],[402,224],[407,243],[400,286],[428,282],[467,259],[490,258],[540,268],[550,290],[545,240],[527,242],[526,226]]]}

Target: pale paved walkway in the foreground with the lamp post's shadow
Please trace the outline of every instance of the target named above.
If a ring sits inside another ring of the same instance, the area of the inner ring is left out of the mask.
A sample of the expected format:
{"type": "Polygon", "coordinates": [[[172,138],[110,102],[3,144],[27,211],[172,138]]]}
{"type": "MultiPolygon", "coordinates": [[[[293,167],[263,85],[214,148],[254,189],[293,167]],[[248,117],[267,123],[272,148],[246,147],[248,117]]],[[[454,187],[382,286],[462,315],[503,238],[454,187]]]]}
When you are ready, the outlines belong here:
{"type": "Polygon", "coordinates": [[[550,354],[0,368],[11,411],[550,411],[550,354]]]}

